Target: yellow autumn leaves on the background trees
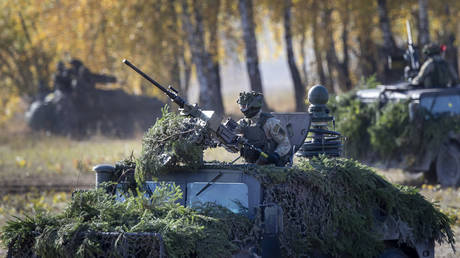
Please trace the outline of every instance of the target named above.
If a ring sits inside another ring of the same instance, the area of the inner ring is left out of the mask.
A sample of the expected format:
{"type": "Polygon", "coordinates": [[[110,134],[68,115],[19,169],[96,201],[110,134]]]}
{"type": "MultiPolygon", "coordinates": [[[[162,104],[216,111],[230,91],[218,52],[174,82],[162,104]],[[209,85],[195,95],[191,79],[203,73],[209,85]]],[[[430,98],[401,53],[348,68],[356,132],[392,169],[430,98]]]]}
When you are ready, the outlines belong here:
{"type": "MultiPolygon", "coordinates": [[[[209,51],[217,53],[216,57],[221,62],[229,58],[243,61],[241,57],[244,56],[244,44],[237,1],[220,0],[220,5],[216,5],[216,1],[197,1],[203,14],[206,43],[210,40],[209,30],[218,24],[221,40],[217,49],[212,48],[209,51]]],[[[190,49],[182,31],[181,2],[182,0],[0,1],[0,124],[10,118],[8,114],[11,114],[10,111],[17,102],[14,98],[34,95],[39,82],[45,87],[52,87],[51,74],[59,60],[79,58],[95,72],[117,76],[120,83],[114,87],[122,87],[136,94],[156,95],[158,92],[145,86],[136,74],[123,69],[120,62],[123,58],[135,60],[136,65],[142,67],[146,73],[153,74],[159,82],[177,83],[177,78],[174,78],[177,74],[173,75],[174,66],[191,62],[190,49]],[[180,53],[177,52],[178,49],[180,53]]],[[[284,2],[253,2],[256,33],[259,42],[263,42],[259,45],[265,47],[259,49],[259,56],[262,59],[280,56],[284,49],[284,2]]],[[[382,43],[376,2],[293,0],[294,40],[299,41],[300,35],[304,33],[310,36],[308,33],[311,31],[313,19],[318,18],[317,21],[321,23],[322,8],[331,8],[332,35],[339,57],[343,55],[341,52],[344,49],[344,43],[340,40],[343,20],[348,17],[350,23],[347,43],[350,52],[353,52],[351,54],[359,58],[359,38],[367,37],[377,45],[382,43]]],[[[418,1],[386,2],[394,36],[399,43],[404,42],[405,21],[409,19],[415,25],[414,13],[418,8],[418,1]]],[[[433,1],[429,7],[430,32],[435,40],[442,39],[449,32],[458,33],[459,1],[433,1]]],[[[324,30],[319,33],[320,43],[324,43],[324,34],[324,30]]],[[[295,48],[299,50],[300,44],[296,43],[295,48]]],[[[326,46],[323,46],[321,51],[325,50],[326,46]]],[[[299,57],[297,60],[300,63],[305,58],[299,57]]],[[[351,77],[354,81],[357,80],[357,75],[351,77]]]]}

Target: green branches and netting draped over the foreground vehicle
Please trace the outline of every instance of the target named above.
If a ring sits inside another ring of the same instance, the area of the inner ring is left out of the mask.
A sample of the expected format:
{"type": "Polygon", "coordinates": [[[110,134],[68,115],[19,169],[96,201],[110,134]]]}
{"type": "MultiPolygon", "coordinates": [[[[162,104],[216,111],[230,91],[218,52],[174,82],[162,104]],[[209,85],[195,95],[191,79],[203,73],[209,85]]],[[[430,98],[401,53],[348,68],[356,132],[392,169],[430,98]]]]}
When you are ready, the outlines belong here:
{"type": "MultiPolygon", "coordinates": [[[[284,211],[280,242],[285,257],[316,249],[332,256],[375,257],[384,247],[378,231],[382,218],[390,216],[399,225],[400,241],[409,245],[422,239],[455,242],[448,217],[417,190],[393,185],[357,161],[320,157],[290,168],[248,165],[243,171],[262,183],[265,202],[284,211]]],[[[76,193],[63,214],[8,222],[2,241],[15,240],[18,250],[32,246],[43,257],[100,253],[97,238],[77,234],[94,231],[161,233],[171,257],[228,257],[257,246],[260,216],[250,221],[214,204],[180,206],[175,203],[181,198],[178,187],[159,187],[150,200],[139,196],[121,203],[102,190],[76,193]]],[[[110,255],[119,255],[116,250],[110,255]]]]}

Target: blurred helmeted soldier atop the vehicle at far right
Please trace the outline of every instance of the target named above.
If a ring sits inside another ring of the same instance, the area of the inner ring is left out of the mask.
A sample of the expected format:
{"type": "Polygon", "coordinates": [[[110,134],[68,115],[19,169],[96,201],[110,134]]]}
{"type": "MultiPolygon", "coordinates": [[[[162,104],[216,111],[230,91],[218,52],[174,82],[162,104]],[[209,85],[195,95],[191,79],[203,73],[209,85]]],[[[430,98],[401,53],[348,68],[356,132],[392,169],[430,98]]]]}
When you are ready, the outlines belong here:
{"type": "Polygon", "coordinates": [[[443,88],[455,85],[457,75],[446,60],[441,57],[441,47],[430,43],[423,47],[423,53],[427,59],[411,84],[425,88],[443,88]]]}

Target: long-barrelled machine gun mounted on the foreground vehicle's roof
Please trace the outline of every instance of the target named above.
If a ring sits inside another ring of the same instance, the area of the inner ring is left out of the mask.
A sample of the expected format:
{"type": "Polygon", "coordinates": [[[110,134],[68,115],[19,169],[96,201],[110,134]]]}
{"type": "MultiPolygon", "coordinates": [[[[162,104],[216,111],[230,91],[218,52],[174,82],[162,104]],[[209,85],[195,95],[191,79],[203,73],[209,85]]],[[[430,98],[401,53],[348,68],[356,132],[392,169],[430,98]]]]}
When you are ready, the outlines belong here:
{"type": "Polygon", "coordinates": [[[211,131],[213,138],[222,144],[226,149],[229,149],[232,152],[237,152],[245,147],[259,152],[260,155],[264,158],[269,158],[267,153],[263,152],[260,148],[250,144],[246,138],[239,136],[234,132],[237,126],[235,120],[228,118],[227,121],[222,124],[222,117],[217,116],[214,111],[201,110],[197,104],[191,105],[187,103],[187,101],[178,95],[178,91],[172,86],[169,86],[169,89],[166,89],[154,79],[150,78],[147,74],[139,70],[139,68],[137,68],[128,60],[124,59],[123,63],[131,67],[131,69],[136,71],[150,83],[155,85],[158,89],[163,91],[174,103],[180,107],[182,115],[196,117],[205,121],[206,127],[211,131]]]}

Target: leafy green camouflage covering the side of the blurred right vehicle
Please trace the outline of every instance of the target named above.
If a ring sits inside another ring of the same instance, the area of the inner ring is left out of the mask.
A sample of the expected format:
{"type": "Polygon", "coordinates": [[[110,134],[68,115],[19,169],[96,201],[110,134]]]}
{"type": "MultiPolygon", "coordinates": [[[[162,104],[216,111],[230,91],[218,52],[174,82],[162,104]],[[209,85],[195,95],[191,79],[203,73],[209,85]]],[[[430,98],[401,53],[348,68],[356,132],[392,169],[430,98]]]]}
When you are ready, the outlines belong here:
{"type": "Polygon", "coordinates": [[[379,109],[378,104],[361,103],[352,94],[333,101],[336,129],[347,138],[345,155],[379,160],[404,157],[410,166],[424,151],[439,148],[449,132],[460,133],[460,116],[420,112],[417,121],[410,121],[408,104],[388,103],[379,109]]]}

